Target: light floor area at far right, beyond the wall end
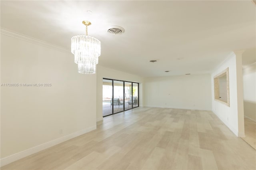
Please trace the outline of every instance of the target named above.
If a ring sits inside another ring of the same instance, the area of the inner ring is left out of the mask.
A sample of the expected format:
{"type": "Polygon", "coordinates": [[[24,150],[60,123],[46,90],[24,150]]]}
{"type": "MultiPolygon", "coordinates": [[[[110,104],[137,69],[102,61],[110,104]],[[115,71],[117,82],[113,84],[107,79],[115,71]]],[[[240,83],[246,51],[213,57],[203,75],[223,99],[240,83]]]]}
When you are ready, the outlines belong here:
{"type": "Polygon", "coordinates": [[[246,117],[244,118],[244,133],[243,139],[256,149],[256,123],[246,117]]]}

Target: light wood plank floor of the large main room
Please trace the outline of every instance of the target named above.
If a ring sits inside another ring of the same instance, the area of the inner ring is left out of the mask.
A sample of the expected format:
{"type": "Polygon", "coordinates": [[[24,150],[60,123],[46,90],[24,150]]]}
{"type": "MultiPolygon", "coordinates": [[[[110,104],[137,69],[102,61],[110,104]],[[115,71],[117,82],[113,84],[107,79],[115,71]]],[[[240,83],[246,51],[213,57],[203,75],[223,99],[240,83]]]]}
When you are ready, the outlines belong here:
{"type": "Polygon", "coordinates": [[[210,111],[139,107],[1,169],[255,170],[255,164],[255,150],[210,111]]]}

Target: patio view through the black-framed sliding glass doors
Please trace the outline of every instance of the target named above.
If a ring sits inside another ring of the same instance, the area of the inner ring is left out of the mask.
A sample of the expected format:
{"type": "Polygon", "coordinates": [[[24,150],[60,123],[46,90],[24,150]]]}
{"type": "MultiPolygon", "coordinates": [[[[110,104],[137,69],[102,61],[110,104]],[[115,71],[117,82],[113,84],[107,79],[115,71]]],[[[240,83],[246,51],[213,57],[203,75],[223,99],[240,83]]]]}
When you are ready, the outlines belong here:
{"type": "Polygon", "coordinates": [[[138,107],[138,83],[103,79],[102,88],[103,116],[138,107]]]}

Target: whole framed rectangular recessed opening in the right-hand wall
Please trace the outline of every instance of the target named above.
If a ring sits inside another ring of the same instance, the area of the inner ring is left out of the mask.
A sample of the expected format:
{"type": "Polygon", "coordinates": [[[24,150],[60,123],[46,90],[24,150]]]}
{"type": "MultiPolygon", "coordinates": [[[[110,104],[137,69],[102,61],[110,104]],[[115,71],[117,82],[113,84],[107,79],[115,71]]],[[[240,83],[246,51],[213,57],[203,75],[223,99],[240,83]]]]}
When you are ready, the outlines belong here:
{"type": "Polygon", "coordinates": [[[214,77],[214,99],[230,107],[228,68],[214,77]]]}

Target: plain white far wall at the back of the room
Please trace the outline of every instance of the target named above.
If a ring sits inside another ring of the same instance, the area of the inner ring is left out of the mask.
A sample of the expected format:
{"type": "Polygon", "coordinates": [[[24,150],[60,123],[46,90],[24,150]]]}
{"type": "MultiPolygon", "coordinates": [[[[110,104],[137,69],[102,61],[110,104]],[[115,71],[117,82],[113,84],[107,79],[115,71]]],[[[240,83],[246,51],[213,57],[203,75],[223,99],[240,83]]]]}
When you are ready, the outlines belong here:
{"type": "Polygon", "coordinates": [[[148,77],[144,106],[211,110],[210,74],[148,77]]]}

